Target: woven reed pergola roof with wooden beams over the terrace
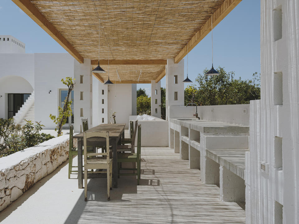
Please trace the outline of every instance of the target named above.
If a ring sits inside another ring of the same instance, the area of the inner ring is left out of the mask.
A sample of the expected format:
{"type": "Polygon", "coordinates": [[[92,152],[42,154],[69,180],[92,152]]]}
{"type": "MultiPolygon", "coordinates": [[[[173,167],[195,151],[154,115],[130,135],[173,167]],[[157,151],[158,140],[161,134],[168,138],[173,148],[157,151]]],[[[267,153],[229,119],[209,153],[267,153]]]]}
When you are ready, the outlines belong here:
{"type": "Polygon", "coordinates": [[[241,0],[12,1],[80,63],[98,60],[100,38],[100,60],[119,60],[110,66],[111,79],[117,79],[118,69],[121,81],[136,83],[159,81],[165,59],[178,63],[187,54],[187,43],[190,51],[210,32],[211,15],[215,27],[241,0]],[[142,71],[141,78],[135,70],[142,71]]]}

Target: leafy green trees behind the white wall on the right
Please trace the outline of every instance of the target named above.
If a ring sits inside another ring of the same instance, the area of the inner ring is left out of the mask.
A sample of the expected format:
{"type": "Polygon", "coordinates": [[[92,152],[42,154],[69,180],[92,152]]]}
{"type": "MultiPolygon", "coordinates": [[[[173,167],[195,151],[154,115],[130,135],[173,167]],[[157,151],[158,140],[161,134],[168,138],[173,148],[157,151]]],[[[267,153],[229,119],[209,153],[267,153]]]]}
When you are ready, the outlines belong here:
{"type": "Polygon", "coordinates": [[[241,80],[235,79],[235,73],[226,72],[224,68],[219,67],[217,71],[220,75],[206,76],[207,69],[203,74],[198,74],[196,85],[185,89],[185,105],[248,104],[250,100],[260,99],[260,74],[257,72],[253,74],[253,79],[241,80]]]}

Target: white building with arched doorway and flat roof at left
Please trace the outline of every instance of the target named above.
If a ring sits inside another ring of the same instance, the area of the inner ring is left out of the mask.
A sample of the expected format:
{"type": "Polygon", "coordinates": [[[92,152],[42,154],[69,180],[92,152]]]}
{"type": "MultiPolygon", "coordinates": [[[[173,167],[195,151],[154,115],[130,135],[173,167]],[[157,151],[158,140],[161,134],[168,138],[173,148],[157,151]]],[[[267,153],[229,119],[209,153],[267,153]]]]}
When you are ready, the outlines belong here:
{"type": "MultiPolygon", "coordinates": [[[[72,94],[75,131],[80,131],[80,118],[88,118],[92,127],[110,123],[114,111],[117,123],[128,124],[128,117],[136,114],[136,84],[107,87],[92,77],[88,59],[80,64],[68,53],[25,54],[25,44],[13,36],[0,35],[0,40],[1,118],[17,114],[18,123],[31,119],[41,121],[44,129],[54,129],[49,115],[57,115],[64,101],[67,86],[61,79],[65,77],[76,79],[72,94]]],[[[69,125],[65,124],[65,128],[69,125]]]]}

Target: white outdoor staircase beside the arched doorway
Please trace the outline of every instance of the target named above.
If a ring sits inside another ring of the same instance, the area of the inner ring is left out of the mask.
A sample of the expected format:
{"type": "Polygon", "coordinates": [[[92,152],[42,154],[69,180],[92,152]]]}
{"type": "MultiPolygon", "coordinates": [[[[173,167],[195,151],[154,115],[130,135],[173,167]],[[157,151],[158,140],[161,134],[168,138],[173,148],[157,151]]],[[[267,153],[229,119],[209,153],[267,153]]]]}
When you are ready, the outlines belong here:
{"type": "Polygon", "coordinates": [[[34,122],[34,91],[28,97],[26,102],[22,105],[20,110],[13,116],[16,124],[21,124],[21,126],[26,124],[25,120],[31,120],[34,122]]]}

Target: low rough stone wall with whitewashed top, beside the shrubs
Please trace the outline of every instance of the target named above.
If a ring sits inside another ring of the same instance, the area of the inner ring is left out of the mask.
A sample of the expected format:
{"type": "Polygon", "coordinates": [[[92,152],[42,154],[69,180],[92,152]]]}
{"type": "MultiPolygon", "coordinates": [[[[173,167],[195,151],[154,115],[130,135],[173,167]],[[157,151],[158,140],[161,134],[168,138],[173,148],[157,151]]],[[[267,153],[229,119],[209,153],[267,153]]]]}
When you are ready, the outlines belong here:
{"type": "Polygon", "coordinates": [[[68,157],[69,135],[62,135],[0,158],[0,211],[68,157]]]}

